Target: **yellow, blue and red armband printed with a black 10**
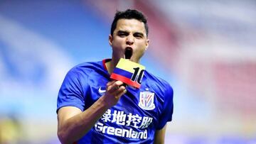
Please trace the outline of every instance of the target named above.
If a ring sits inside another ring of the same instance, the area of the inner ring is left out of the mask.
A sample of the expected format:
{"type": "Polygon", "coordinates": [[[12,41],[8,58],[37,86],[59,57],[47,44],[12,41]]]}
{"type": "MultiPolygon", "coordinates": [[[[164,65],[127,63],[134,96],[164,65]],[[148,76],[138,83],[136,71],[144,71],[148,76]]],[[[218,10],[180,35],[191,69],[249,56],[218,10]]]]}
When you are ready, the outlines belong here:
{"type": "Polygon", "coordinates": [[[145,67],[143,65],[121,58],[110,78],[139,89],[142,84],[144,70],[145,67]]]}

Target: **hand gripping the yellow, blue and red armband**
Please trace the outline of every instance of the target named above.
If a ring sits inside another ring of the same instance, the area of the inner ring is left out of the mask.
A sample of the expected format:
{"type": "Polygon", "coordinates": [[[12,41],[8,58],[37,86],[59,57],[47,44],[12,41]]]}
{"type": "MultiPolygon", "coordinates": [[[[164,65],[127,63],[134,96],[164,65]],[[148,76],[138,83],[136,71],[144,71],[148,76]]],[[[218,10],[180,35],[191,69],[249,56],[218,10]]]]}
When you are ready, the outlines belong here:
{"type": "Polygon", "coordinates": [[[127,92],[126,87],[123,85],[124,83],[121,81],[112,81],[107,83],[107,89],[102,96],[103,101],[107,104],[107,107],[112,107],[117,104],[120,97],[127,92]]]}

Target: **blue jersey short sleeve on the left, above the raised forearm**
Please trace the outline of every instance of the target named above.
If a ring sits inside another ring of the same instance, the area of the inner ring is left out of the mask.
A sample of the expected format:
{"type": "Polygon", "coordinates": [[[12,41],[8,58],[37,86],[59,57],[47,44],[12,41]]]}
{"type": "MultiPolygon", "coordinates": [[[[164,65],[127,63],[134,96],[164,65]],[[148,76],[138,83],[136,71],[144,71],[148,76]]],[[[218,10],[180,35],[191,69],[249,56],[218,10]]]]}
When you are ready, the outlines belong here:
{"type": "Polygon", "coordinates": [[[85,101],[82,87],[86,86],[82,86],[79,72],[73,68],[65,76],[60,87],[57,99],[57,113],[63,106],[75,106],[81,111],[84,110],[85,101]]]}

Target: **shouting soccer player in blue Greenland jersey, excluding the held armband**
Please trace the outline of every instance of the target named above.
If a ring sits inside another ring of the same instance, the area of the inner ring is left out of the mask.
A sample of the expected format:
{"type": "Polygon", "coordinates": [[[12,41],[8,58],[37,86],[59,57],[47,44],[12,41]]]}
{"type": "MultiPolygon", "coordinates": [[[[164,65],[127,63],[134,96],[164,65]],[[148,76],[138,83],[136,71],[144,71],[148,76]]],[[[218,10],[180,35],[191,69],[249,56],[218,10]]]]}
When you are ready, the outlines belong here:
{"type": "Polygon", "coordinates": [[[164,143],[173,113],[171,86],[146,70],[139,89],[110,79],[120,58],[139,63],[148,33],[143,13],[117,11],[109,35],[112,59],[68,72],[57,104],[61,143],[164,143]]]}

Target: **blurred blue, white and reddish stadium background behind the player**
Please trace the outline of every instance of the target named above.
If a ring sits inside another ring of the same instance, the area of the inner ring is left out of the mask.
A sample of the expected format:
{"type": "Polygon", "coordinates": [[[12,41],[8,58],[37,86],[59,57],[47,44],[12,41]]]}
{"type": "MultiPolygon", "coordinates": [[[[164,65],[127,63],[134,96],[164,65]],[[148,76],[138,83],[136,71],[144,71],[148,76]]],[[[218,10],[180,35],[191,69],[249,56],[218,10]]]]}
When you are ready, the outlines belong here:
{"type": "Polygon", "coordinates": [[[256,1],[0,1],[0,143],[59,143],[71,67],[111,56],[116,10],[149,19],[146,69],[174,87],[166,143],[256,143],[256,1]]]}

